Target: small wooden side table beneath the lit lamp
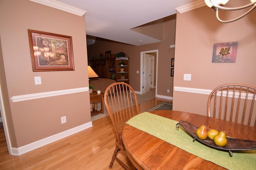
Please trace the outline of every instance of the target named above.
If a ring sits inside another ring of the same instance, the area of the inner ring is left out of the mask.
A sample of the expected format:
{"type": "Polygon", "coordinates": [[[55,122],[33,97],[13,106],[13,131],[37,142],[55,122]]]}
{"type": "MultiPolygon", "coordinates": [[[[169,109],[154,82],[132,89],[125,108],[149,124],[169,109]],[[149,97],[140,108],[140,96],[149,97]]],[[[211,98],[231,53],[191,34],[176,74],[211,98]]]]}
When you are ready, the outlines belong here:
{"type": "Polygon", "coordinates": [[[104,113],[103,95],[103,93],[97,94],[97,92],[92,92],[92,94],[90,94],[91,116],[104,113]]]}

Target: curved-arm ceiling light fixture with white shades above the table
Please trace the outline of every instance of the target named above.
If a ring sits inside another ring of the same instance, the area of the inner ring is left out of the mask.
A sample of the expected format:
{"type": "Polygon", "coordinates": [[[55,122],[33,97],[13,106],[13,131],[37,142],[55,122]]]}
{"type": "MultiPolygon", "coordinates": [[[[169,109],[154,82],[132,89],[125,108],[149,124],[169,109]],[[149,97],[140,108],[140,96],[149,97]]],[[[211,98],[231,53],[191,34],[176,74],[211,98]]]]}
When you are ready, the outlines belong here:
{"type": "Polygon", "coordinates": [[[235,8],[228,8],[228,7],[224,7],[224,5],[229,1],[229,0],[204,0],[206,5],[209,6],[210,8],[214,9],[216,11],[216,18],[218,21],[222,22],[222,23],[229,23],[229,22],[233,22],[233,21],[237,21],[241,18],[243,18],[244,16],[246,16],[247,14],[249,14],[250,12],[252,12],[252,10],[254,10],[256,8],[256,0],[250,0],[251,3],[244,5],[244,6],[240,6],[240,7],[235,7],[235,8]],[[234,18],[233,20],[228,20],[228,21],[224,21],[221,20],[219,18],[219,10],[227,10],[227,11],[235,11],[235,10],[242,10],[245,8],[248,8],[250,6],[253,6],[252,8],[250,8],[250,10],[248,10],[246,13],[244,13],[243,15],[241,15],[238,18],[234,18]]]}

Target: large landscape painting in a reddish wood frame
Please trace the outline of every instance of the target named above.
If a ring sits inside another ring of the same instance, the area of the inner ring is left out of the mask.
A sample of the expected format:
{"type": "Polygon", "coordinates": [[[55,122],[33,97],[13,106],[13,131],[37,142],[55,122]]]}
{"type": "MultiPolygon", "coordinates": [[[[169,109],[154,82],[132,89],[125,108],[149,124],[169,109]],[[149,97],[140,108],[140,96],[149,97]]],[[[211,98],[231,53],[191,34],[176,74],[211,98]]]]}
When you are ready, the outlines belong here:
{"type": "Polygon", "coordinates": [[[74,70],[72,37],[28,29],[33,71],[74,70]]]}

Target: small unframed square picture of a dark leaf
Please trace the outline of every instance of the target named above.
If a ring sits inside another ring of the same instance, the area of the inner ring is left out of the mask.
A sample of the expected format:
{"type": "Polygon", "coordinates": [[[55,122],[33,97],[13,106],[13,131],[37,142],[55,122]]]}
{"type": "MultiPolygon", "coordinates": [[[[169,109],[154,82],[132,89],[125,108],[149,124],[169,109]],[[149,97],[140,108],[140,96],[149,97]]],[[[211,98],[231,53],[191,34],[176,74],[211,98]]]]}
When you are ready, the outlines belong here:
{"type": "Polygon", "coordinates": [[[238,42],[215,43],[213,45],[212,63],[236,62],[238,42]]]}

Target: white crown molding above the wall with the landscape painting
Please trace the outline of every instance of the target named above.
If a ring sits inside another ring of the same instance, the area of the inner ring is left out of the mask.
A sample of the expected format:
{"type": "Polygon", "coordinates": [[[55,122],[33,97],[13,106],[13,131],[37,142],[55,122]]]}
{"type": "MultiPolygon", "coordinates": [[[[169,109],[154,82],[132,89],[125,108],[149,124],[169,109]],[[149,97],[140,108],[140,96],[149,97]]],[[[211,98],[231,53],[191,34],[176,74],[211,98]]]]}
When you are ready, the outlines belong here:
{"type": "Polygon", "coordinates": [[[58,2],[56,0],[30,0],[30,1],[33,1],[33,2],[36,2],[36,3],[39,3],[39,4],[43,4],[43,5],[46,5],[46,6],[50,6],[52,8],[56,8],[58,10],[66,11],[66,12],[69,12],[71,14],[75,14],[75,15],[78,15],[78,16],[83,16],[86,13],[86,11],[84,11],[84,10],[80,10],[80,9],[75,8],[73,6],[63,4],[63,3],[58,2]]]}

